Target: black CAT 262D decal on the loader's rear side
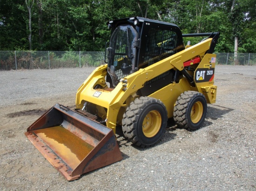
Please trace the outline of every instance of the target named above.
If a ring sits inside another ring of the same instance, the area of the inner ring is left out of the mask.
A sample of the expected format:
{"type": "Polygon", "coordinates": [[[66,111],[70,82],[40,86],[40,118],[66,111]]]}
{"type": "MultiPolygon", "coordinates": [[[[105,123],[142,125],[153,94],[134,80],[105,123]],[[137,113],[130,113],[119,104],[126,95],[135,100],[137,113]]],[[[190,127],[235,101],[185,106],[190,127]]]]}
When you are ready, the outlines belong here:
{"type": "Polygon", "coordinates": [[[199,68],[195,71],[195,82],[211,82],[214,77],[214,68],[199,68]]]}

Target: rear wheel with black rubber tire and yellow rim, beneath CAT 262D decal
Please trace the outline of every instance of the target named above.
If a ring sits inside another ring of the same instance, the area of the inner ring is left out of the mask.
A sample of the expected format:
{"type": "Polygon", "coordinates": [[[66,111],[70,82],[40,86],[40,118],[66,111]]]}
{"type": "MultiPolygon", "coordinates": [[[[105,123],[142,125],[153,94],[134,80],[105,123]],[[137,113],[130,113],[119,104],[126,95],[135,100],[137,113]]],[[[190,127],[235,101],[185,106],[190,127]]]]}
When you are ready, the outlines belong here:
{"type": "Polygon", "coordinates": [[[207,113],[207,102],[202,93],[185,91],[175,102],[173,118],[175,123],[188,130],[202,126],[207,113]]]}

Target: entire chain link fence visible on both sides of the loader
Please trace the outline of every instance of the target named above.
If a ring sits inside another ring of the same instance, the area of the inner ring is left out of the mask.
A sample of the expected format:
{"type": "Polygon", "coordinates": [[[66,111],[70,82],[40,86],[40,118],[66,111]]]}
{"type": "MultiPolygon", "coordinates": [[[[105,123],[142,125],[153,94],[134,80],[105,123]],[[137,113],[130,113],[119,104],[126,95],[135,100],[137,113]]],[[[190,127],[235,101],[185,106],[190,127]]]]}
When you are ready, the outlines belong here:
{"type": "MultiPolygon", "coordinates": [[[[0,51],[0,70],[81,68],[104,64],[104,52],[89,51],[0,51]]],[[[256,54],[216,53],[216,63],[256,65],[256,54]]]]}

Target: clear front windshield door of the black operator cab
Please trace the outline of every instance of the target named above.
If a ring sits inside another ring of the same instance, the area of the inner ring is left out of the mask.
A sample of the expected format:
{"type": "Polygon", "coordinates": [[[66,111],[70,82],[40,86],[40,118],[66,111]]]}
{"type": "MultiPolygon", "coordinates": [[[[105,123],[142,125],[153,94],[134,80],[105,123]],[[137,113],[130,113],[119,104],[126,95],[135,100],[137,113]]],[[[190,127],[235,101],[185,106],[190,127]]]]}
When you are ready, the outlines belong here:
{"type": "Polygon", "coordinates": [[[137,38],[137,32],[131,25],[120,25],[113,32],[108,48],[108,73],[113,84],[134,69],[136,48],[133,44],[137,38]]]}

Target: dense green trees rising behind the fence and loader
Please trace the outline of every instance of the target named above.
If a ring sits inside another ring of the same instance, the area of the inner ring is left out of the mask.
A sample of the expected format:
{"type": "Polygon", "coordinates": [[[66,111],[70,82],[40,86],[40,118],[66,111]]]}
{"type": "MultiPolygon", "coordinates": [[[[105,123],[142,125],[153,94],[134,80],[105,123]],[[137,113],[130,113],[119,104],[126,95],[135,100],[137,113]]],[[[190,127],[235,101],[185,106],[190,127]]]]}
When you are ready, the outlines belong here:
{"type": "Polygon", "coordinates": [[[1,0],[0,50],[102,51],[107,21],[126,17],[221,32],[216,52],[256,53],[255,0],[1,0]]]}

